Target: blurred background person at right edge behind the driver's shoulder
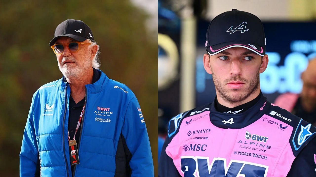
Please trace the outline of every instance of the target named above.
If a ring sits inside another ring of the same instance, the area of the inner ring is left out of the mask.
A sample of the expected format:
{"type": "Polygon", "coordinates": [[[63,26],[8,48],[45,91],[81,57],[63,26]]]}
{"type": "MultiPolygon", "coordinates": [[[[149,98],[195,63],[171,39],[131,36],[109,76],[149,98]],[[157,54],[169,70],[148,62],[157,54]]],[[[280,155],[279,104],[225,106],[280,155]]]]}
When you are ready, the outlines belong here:
{"type": "Polygon", "coordinates": [[[316,58],[308,63],[301,74],[303,88],[301,94],[286,93],[275,100],[275,105],[286,109],[309,123],[316,125],[316,58]]]}

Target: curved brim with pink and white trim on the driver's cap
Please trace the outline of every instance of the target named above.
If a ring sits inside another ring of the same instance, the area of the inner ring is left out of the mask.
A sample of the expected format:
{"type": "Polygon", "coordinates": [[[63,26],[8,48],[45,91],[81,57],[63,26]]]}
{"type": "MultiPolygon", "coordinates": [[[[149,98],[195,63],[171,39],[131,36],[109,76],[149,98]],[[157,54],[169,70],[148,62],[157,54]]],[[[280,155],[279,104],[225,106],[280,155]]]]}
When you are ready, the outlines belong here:
{"type": "Polygon", "coordinates": [[[265,54],[263,47],[260,47],[256,44],[245,43],[245,42],[240,42],[240,41],[233,41],[233,42],[216,44],[213,46],[209,46],[206,50],[210,55],[215,55],[215,54],[222,52],[223,50],[233,48],[233,47],[242,47],[245,49],[249,49],[260,56],[264,56],[264,54],[265,54]]]}

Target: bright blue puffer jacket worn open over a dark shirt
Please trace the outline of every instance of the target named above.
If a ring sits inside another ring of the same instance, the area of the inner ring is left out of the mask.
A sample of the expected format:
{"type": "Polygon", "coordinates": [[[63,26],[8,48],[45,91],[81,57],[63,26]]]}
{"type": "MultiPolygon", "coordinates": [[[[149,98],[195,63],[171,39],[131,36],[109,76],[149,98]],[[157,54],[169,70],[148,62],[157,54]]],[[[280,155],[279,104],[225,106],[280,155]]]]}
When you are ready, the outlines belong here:
{"type": "MultiPolygon", "coordinates": [[[[154,176],[144,118],[134,93],[124,84],[100,78],[86,85],[76,177],[154,176]]],[[[33,95],[20,153],[20,176],[71,176],[68,146],[70,86],[63,78],[33,95]]]]}

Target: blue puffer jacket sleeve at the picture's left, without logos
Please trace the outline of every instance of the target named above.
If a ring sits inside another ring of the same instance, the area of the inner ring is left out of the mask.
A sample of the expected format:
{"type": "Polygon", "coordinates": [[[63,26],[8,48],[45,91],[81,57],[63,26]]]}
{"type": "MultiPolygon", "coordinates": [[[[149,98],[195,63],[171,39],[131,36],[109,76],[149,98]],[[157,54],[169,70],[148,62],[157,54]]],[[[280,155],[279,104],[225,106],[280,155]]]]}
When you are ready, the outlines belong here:
{"type": "Polygon", "coordinates": [[[33,101],[28,113],[20,152],[20,177],[40,176],[39,152],[33,123],[33,101]]]}

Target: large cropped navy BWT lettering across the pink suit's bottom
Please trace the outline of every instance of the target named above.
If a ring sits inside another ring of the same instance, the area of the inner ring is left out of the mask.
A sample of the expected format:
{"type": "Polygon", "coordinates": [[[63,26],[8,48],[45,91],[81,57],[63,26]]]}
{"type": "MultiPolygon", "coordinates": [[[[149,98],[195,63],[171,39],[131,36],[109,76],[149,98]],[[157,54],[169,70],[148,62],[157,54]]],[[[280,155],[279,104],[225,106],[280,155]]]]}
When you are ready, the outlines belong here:
{"type": "Polygon", "coordinates": [[[181,172],[189,177],[225,177],[256,176],[266,177],[268,166],[240,160],[231,160],[227,166],[225,158],[214,158],[210,163],[209,157],[181,156],[181,172]]]}

